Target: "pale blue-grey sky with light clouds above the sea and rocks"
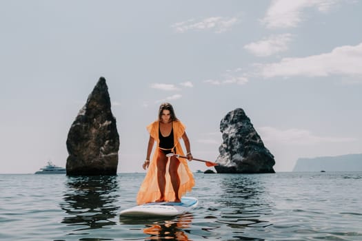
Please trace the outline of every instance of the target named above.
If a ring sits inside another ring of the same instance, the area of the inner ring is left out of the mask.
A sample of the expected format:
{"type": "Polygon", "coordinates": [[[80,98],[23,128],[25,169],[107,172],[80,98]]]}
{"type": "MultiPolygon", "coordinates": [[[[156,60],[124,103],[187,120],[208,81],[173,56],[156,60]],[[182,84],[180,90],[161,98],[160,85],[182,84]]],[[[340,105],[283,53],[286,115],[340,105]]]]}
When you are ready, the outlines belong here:
{"type": "Polygon", "coordinates": [[[101,76],[120,173],[143,171],[145,126],[165,101],[195,158],[217,159],[220,121],[239,107],[276,172],[362,153],[361,12],[355,0],[0,1],[0,174],[65,167],[101,76]]]}

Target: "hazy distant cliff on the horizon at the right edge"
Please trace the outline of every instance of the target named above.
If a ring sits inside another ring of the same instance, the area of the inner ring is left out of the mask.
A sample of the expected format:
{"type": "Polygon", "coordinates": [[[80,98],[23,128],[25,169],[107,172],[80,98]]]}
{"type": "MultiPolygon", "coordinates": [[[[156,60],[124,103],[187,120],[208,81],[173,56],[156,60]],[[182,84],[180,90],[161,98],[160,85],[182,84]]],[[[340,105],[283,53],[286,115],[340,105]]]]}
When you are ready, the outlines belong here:
{"type": "Polygon", "coordinates": [[[299,158],[293,171],[362,171],[362,154],[299,158]]]}

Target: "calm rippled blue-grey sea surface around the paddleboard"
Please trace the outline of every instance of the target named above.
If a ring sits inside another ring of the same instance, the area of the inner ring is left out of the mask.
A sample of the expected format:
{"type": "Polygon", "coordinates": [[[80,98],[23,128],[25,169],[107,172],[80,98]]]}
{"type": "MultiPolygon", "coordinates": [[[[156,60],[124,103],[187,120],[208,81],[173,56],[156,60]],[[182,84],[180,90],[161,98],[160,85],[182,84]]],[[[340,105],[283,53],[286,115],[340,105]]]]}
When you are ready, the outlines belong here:
{"type": "Polygon", "coordinates": [[[0,175],[0,240],[362,240],[362,172],[194,174],[199,207],[120,218],[144,174],[0,175]]]}

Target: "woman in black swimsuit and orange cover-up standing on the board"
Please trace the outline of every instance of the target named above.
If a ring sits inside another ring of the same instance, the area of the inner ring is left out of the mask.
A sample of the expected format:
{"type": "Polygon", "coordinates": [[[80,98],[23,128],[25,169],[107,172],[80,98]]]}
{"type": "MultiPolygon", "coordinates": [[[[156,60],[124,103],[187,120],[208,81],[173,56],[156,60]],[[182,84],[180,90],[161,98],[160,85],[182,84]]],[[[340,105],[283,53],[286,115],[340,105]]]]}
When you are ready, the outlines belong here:
{"type": "Polygon", "coordinates": [[[159,107],[159,119],[147,126],[150,133],[147,156],[143,169],[148,172],[137,194],[137,204],[146,202],[181,202],[181,196],[191,191],[194,186],[194,177],[185,159],[166,154],[184,156],[179,140],[185,143],[188,160],[192,160],[190,141],[185,132],[185,125],[177,119],[170,103],[163,103],[159,107]],[[154,142],[157,142],[150,160],[154,142]]]}

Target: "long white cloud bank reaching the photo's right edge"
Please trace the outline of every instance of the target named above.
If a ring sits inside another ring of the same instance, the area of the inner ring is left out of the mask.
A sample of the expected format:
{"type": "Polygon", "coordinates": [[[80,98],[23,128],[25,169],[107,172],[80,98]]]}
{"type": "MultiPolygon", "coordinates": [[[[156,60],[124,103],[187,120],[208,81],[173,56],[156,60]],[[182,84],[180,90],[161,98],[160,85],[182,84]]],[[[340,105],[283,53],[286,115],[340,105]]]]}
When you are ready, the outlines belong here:
{"type": "Polygon", "coordinates": [[[264,78],[277,76],[330,76],[340,74],[362,77],[362,43],[334,48],[332,52],[303,58],[285,58],[279,63],[257,65],[257,75],[264,78]]]}

